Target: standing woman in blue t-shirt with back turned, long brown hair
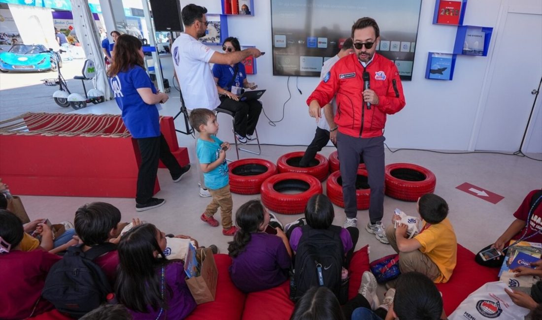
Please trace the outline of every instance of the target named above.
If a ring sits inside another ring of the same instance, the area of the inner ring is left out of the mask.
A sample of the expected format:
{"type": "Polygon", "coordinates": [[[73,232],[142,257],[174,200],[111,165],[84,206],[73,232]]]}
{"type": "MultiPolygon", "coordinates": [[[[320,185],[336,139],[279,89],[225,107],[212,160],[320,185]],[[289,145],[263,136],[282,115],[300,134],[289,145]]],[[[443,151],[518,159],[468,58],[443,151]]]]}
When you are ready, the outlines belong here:
{"type": "Polygon", "coordinates": [[[149,210],[165,203],[164,199],[152,198],[158,161],[162,160],[169,169],[174,182],[180,181],[190,165],[179,166],[160,133],[157,103],[164,103],[169,97],[154,88],[145,72],[141,41],[131,35],[121,35],[115,42],[113,55],[115,60],[107,75],[117,105],[122,110],[122,121],[137,140],[141,154],[135,210],[149,210]]]}

